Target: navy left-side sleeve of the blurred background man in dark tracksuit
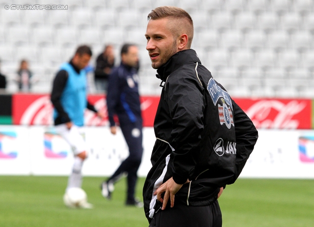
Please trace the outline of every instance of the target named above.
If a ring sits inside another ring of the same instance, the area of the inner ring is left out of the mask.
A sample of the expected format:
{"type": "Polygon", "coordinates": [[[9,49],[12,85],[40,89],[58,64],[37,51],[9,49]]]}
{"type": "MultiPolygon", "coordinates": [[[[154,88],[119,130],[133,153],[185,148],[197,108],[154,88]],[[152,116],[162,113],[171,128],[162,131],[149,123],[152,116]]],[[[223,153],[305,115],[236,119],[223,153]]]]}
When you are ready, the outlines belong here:
{"type": "Polygon", "coordinates": [[[117,72],[118,72],[117,70],[114,70],[111,74],[109,74],[108,78],[106,102],[110,126],[115,125],[113,115],[115,114],[115,108],[120,101],[119,77],[117,72]]]}

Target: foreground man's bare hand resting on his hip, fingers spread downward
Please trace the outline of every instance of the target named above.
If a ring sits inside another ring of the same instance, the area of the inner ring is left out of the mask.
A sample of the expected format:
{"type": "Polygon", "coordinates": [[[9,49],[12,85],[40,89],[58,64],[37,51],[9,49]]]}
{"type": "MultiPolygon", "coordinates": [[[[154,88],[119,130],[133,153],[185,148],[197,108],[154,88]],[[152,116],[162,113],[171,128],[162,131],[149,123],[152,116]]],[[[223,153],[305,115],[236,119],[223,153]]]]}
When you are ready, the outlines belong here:
{"type": "Polygon", "coordinates": [[[158,201],[162,202],[161,210],[166,208],[167,202],[170,197],[171,207],[174,206],[175,203],[175,194],[181,189],[183,184],[177,184],[173,178],[171,177],[169,180],[160,185],[159,188],[155,191],[154,195],[157,195],[158,201]],[[161,194],[165,192],[163,199],[161,198],[161,194]]]}

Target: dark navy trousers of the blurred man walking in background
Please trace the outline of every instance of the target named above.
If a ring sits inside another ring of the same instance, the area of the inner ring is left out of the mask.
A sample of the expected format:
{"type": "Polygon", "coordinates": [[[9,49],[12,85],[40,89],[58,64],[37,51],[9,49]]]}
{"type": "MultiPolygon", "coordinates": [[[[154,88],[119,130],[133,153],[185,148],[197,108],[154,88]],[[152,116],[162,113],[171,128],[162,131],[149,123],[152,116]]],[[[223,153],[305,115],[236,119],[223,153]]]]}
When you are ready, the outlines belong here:
{"type": "Polygon", "coordinates": [[[128,173],[128,200],[134,200],[135,186],[137,181],[137,170],[141,164],[143,146],[142,146],[142,123],[135,122],[130,124],[121,124],[121,131],[128,144],[130,155],[124,160],[119,168],[107,180],[116,181],[124,172],[128,173]]]}

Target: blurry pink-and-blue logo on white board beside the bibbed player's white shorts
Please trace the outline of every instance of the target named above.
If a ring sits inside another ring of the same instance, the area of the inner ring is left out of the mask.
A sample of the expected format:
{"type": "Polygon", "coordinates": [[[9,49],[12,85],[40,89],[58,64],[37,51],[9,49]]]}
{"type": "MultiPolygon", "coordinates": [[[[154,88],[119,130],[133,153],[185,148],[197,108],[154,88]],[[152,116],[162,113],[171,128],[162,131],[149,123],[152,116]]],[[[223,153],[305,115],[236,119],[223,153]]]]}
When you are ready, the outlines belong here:
{"type": "Polygon", "coordinates": [[[64,144],[63,138],[54,132],[45,132],[45,156],[47,158],[66,158],[68,151],[64,144]]]}

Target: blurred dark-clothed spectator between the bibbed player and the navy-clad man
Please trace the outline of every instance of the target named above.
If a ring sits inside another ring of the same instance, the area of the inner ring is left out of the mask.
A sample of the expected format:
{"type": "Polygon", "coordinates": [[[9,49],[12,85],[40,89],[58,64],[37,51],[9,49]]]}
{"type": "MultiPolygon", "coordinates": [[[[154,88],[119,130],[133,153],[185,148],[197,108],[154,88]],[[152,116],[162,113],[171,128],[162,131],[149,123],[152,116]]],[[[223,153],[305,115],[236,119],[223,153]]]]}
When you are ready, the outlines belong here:
{"type": "Polygon", "coordinates": [[[105,50],[96,60],[95,85],[97,91],[105,91],[108,75],[114,66],[114,51],[112,45],[105,46],[105,50]]]}

